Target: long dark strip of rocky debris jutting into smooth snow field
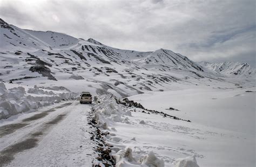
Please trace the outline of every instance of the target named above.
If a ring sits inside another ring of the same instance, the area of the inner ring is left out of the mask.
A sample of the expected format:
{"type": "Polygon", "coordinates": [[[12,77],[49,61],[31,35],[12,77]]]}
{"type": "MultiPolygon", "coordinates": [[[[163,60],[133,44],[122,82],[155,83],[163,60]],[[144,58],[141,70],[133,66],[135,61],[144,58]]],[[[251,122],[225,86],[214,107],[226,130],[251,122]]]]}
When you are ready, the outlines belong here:
{"type": "Polygon", "coordinates": [[[115,98],[115,100],[116,100],[116,102],[118,104],[121,104],[121,105],[124,105],[124,106],[127,106],[127,107],[141,108],[141,109],[144,109],[144,110],[146,110],[148,112],[148,113],[146,113],[143,110],[142,113],[146,113],[146,114],[150,114],[150,113],[160,114],[160,115],[162,115],[164,117],[170,117],[170,118],[172,118],[174,120],[182,120],[182,121],[191,122],[190,120],[184,120],[184,119],[180,119],[179,117],[176,117],[176,116],[172,116],[172,115],[169,115],[169,114],[166,114],[166,113],[163,113],[163,112],[158,112],[157,110],[147,109],[147,108],[143,107],[142,104],[134,102],[133,100],[129,100],[128,98],[124,98],[123,100],[115,98]]]}

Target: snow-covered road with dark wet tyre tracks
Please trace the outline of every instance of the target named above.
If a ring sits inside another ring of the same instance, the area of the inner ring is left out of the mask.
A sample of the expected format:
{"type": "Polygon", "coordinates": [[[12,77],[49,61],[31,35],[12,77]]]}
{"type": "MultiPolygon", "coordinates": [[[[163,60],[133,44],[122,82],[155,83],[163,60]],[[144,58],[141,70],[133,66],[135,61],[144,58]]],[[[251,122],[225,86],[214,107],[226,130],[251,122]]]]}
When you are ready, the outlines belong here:
{"type": "Polygon", "coordinates": [[[68,101],[0,122],[0,166],[92,166],[90,110],[68,101]]]}

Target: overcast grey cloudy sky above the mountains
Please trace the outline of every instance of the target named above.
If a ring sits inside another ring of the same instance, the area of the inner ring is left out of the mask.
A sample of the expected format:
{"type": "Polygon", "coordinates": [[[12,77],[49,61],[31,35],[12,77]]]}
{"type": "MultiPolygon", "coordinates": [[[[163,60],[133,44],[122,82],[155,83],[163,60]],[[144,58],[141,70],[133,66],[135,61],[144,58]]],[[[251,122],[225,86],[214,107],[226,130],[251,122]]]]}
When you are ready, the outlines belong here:
{"type": "Polygon", "coordinates": [[[23,29],[57,31],[138,51],[166,48],[194,61],[255,66],[255,0],[0,0],[0,17],[23,29]]]}

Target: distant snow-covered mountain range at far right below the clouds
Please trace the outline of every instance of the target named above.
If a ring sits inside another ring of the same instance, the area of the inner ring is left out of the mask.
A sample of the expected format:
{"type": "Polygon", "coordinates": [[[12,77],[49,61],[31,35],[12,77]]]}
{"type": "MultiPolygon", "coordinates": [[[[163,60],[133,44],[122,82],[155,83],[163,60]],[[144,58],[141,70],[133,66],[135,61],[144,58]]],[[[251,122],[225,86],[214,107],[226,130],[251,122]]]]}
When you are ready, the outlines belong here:
{"type": "Polygon", "coordinates": [[[252,69],[247,63],[241,62],[219,62],[210,63],[206,61],[198,62],[201,66],[208,68],[220,74],[227,76],[250,77],[255,75],[255,69],[252,69]]]}

